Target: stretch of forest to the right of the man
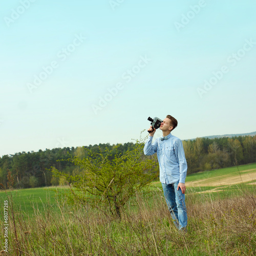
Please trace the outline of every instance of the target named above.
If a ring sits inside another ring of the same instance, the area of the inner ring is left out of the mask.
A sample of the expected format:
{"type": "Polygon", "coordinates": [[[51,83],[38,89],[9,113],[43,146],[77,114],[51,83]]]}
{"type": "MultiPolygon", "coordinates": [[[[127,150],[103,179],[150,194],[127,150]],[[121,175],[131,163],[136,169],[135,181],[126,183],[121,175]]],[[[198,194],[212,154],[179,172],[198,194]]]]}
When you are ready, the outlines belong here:
{"type": "Polygon", "coordinates": [[[188,174],[256,162],[256,136],[183,141],[188,174]]]}

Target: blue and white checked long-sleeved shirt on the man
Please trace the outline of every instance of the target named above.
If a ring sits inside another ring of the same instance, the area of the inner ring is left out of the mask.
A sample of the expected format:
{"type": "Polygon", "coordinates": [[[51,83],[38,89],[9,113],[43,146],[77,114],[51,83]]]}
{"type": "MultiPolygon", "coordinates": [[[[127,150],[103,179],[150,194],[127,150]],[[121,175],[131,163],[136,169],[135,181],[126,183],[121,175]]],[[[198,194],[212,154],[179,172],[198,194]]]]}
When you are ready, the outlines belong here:
{"type": "Polygon", "coordinates": [[[182,141],[172,134],[168,134],[164,140],[157,138],[152,144],[153,137],[148,137],[144,146],[144,154],[151,156],[157,153],[160,181],[165,184],[173,184],[177,181],[185,183],[187,161],[182,141]]]}

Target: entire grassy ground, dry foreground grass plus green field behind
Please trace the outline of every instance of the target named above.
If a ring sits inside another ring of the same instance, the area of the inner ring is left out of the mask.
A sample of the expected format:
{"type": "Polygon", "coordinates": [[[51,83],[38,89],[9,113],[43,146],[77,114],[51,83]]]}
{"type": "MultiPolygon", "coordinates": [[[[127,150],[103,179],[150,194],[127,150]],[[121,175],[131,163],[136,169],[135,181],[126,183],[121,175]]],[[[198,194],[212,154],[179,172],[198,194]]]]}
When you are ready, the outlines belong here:
{"type": "Polygon", "coordinates": [[[186,234],[174,227],[160,182],[133,197],[121,220],[55,197],[67,187],[13,190],[13,204],[1,191],[2,206],[14,209],[5,255],[255,255],[255,174],[256,163],[188,175],[186,234]]]}

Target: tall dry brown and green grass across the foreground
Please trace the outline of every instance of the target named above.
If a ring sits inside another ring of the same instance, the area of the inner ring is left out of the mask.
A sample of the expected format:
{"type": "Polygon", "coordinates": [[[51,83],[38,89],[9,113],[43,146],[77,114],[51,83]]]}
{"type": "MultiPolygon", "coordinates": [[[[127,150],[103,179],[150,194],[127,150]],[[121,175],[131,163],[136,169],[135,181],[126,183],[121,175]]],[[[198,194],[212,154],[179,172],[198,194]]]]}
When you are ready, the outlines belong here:
{"type": "Polygon", "coordinates": [[[56,205],[45,204],[42,211],[34,206],[28,218],[14,207],[5,255],[256,254],[256,198],[246,190],[232,199],[187,195],[187,233],[175,228],[162,191],[137,194],[121,219],[105,208],[70,206],[65,199],[56,205]]]}

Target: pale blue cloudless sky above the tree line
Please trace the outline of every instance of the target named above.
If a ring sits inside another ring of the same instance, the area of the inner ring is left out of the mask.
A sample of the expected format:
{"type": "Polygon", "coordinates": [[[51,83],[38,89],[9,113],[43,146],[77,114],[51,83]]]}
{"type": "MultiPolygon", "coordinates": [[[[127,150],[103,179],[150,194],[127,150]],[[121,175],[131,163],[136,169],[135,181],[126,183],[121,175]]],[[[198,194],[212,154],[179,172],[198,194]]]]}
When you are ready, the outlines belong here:
{"type": "Polygon", "coordinates": [[[181,139],[256,131],[255,1],[32,2],[1,3],[0,156],[129,142],[168,114],[181,139]]]}

